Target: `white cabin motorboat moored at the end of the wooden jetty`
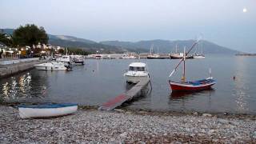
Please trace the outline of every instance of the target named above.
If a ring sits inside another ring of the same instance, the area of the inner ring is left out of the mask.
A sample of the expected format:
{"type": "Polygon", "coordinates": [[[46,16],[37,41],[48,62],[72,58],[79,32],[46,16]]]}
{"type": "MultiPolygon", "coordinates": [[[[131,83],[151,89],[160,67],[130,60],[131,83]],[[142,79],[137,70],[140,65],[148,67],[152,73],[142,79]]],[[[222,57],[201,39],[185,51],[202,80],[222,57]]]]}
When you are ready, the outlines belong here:
{"type": "Polygon", "coordinates": [[[129,65],[129,70],[124,74],[126,82],[138,83],[142,79],[150,78],[146,71],[146,64],[142,62],[133,62],[129,65]]]}

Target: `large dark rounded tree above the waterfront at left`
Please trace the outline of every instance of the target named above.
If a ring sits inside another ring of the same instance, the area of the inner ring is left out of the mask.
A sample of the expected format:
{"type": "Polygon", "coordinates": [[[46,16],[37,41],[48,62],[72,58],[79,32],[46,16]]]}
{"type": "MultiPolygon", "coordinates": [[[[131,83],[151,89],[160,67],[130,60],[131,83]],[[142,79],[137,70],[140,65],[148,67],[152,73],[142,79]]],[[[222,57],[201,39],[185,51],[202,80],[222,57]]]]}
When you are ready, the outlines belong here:
{"type": "Polygon", "coordinates": [[[13,34],[14,46],[33,46],[38,42],[47,44],[48,40],[46,30],[42,26],[38,28],[34,24],[19,26],[13,34]]]}

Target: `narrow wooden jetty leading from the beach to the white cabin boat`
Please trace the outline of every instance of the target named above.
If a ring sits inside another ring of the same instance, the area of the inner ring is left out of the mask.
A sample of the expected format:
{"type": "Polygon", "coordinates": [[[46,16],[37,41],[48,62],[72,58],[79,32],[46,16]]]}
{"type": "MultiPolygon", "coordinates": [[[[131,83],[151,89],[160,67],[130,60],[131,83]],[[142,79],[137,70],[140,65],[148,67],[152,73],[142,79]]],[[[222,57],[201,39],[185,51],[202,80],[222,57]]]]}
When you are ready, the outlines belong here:
{"type": "Polygon", "coordinates": [[[114,108],[121,106],[122,103],[134,98],[149,82],[150,78],[143,79],[124,94],[119,94],[117,97],[111,98],[109,101],[103,103],[98,110],[113,110],[114,108]]]}

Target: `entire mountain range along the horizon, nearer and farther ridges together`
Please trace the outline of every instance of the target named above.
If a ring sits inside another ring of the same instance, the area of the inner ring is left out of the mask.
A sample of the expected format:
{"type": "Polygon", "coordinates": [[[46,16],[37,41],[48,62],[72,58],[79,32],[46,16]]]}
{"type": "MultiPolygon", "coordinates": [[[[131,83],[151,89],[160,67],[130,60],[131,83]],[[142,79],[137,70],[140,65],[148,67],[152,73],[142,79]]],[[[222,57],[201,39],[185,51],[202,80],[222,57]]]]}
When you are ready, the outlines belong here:
{"type": "MultiPolygon", "coordinates": [[[[13,34],[14,29],[0,29],[0,33],[13,34]]],[[[170,53],[174,52],[176,45],[178,46],[178,51],[182,51],[183,47],[189,48],[194,40],[149,40],[149,41],[139,41],[139,42],[122,42],[122,41],[104,41],[104,42],[94,42],[84,38],[76,38],[67,35],[52,35],[48,34],[49,43],[53,46],[63,46],[63,47],[78,47],[84,50],[89,50],[91,52],[96,52],[99,50],[101,53],[124,53],[127,51],[133,52],[149,52],[150,46],[154,45],[154,52],[159,53],[170,53]]],[[[218,46],[213,42],[201,41],[200,47],[204,54],[238,54],[241,53],[237,50],[231,50],[224,46],[218,46]]]]}

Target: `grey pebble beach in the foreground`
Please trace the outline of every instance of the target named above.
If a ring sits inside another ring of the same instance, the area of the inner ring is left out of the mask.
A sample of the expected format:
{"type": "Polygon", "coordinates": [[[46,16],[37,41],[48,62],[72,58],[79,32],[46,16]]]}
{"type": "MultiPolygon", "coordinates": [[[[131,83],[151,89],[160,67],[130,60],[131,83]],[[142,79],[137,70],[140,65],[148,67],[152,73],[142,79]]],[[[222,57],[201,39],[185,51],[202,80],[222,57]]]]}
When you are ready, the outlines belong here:
{"type": "Polygon", "coordinates": [[[212,114],[79,109],[59,118],[22,119],[0,106],[0,143],[255,143],[253,118],[212,114]]]}

